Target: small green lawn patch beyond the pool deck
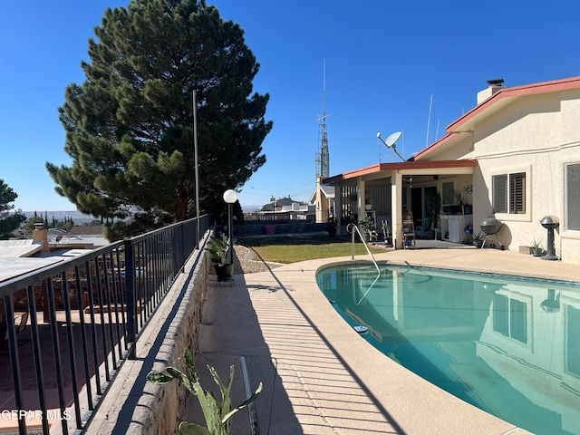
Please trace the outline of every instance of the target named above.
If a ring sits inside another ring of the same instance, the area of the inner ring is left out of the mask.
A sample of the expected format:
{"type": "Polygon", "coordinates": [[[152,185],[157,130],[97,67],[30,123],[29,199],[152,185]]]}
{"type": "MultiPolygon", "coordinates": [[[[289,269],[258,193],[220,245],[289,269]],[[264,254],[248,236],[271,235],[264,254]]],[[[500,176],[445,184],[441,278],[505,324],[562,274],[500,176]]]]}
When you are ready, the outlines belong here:
{"type": "MultiPolygon", "coordinates": [[[[243,238],[237,243],[253,249],[264,261],[284,264],[330,256],[351,256],[353,253],[351,241],[341,237],[256,237],[243,238]]],[[[371,247],[371,252],[382,253],[384,249],[371,247]]],[[[362,243],[355,243],[354,255],[365,254],[368,253],[362,243]]]]}

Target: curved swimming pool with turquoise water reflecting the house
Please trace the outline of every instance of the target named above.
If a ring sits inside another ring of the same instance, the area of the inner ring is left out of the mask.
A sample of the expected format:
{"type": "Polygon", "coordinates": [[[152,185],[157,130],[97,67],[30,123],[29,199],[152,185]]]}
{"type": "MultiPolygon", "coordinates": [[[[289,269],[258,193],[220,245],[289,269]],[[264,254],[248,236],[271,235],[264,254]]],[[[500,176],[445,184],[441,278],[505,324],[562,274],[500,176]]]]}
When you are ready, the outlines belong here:
{"type": "Polygon", "coordinates": [[[537,434],[580,434],[580,286],[411,266],[329,266],[316,281],[385,355],[537,434]]]}

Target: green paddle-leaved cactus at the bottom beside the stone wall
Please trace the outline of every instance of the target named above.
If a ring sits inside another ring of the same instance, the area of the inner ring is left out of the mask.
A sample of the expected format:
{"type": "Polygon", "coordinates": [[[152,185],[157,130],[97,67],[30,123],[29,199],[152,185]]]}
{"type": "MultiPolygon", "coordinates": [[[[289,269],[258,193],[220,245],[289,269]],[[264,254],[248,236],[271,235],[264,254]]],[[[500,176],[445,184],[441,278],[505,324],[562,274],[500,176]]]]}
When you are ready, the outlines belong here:
{"type": "Polygon", "coordinates": [[[201,411],[203,411],[206,419],[207,428],[198,426],[188,421],[182,421],[179,424],[179,433],[182,435],[227,435],[229,433],[231,417],[240,410],[247,407],[252,401],[257,399],[257,396],[262,392],[262,382],[258,385],[256,392],[247,401],[237,405],[232,409],[232,402],[230,392],[232,389],[232,382],[234,381],[234,366],[229,367],[229,382],[227,386],[219,379],[218,372],[208,365],[208,370],[218,384],[219,391],[221,391],[221,402],[218,401],[212,391],[205,390],[199,383],[199,373],[196,370],[193,361],[193,355],[189,349],[185,350],[184,360],[188,366],[189,375],[179,371],[175,367],[167,367],[165,372],[150,372],[147,375],[149,382],[164,384],[177,379],[185,385],[185,387],[194,395],[197,396],[201,411]]]}

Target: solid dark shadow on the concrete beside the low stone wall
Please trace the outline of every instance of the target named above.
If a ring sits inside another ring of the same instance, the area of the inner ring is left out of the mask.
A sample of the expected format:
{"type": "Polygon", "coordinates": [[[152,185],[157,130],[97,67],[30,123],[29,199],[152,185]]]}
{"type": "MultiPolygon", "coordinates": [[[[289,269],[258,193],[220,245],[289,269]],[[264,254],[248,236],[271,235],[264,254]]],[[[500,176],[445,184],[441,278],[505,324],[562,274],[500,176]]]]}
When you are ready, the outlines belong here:
{"type": "MultiPolygon", "coordinates": [[[[244,275],[235,275],[231,287],[219,285],[216,278],[211,277],[202,312],[196,365],[204,388],[214,391],[219,398],[218,387],[207,364],[216,368],[224,383],[227,383],[229,366],[234,365],[233,406],[246,400],[246,382],[250,394],[256,391],[259,382],[264,385],[254,402],[255,424],[250,420],[251,409],[239,411],[232,418],[231,435],[304,433],[282,386],[277,362],[272,359],[264,340],[244,275]],[[242,361],[246,363],[246,375],[242,361]]],[[[205,426],[196,397],[189,398],[186,420],[205,426]]]]}

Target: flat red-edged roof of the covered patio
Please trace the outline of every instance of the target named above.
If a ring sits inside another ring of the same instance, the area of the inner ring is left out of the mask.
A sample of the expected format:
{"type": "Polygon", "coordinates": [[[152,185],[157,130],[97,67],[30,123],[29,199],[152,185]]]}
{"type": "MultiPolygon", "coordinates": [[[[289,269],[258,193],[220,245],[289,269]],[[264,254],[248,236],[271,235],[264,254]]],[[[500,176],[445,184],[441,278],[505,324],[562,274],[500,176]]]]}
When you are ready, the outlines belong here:
{"type": "Polygon", "coordinates": [[[323,179],[323,184],[336,184],[359,177],[380,179],[389,177],[393,171],[397,171],[401,175],[473,174],[475,167],[476,160],[408,160],[394,163],[377,163],[366,168],[353,169],[328,179],[323,179]]]}

